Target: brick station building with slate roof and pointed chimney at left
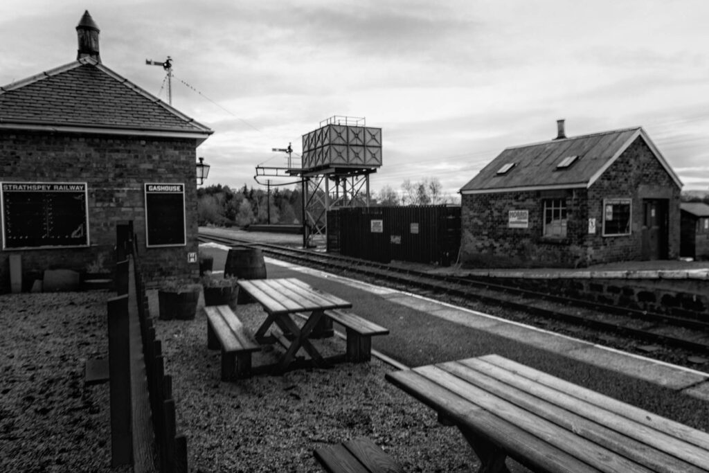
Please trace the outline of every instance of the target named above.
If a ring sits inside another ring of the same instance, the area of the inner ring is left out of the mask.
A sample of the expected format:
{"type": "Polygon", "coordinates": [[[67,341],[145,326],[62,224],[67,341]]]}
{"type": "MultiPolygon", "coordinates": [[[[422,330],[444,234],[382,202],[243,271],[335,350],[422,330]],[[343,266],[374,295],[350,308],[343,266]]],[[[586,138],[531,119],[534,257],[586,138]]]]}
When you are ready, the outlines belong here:
{"type": "Polygon", "coordinates": [[[86,11],[77,60],[0,87],[0,292],[9,260],[110,271],[116,225],[133,221],[146,282],[193,279],[196,148],[212,130],[101,62],[86,11]]]}

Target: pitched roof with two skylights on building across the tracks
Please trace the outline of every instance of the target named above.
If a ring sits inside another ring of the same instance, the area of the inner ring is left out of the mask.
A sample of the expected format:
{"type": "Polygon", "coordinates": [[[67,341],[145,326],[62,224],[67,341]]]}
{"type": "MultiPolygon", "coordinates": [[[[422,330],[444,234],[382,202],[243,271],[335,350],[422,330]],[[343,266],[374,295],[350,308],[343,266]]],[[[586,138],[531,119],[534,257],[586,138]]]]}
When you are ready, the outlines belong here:
{"type": "Polygon", "coordinates": [[[460,193],[588,188],[638,137],[681,187],[681,181],[647,133],[636,127],[507,148],[465,184],[460,193]],[[510,164],[513,166],[507,172],[498,172],[510,164]]]}

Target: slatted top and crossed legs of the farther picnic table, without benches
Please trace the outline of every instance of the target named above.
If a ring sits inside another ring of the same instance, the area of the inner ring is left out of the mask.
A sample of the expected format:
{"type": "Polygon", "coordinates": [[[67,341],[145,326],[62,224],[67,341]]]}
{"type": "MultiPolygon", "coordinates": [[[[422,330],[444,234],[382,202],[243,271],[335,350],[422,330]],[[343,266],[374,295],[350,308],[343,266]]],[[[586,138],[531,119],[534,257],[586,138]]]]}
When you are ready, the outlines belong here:
{"type": "Polygon", "coordinates": [[[240,289],[261,304],[267,313],[266,320],[254,335],[257,342],[279,341],[286,347],[286,351],[277,362],[278,371],[285,371],[294,362],[296,353],[301,347],[310,355],[316,366],[328,366],[328,362],[308,337],[319,324],[328,320],[325,311],[351,308],[350,302],[315,289],[296,278],[241,279],[238,284],[240,289]],[[306,316],[302,327],[295,321],[296,314],[306,316]],[[281,335],[267,335],[269,328],[274,325],[281,330],[281,335]],[[274,337],[277,340],[274,340],[274,337]]]}

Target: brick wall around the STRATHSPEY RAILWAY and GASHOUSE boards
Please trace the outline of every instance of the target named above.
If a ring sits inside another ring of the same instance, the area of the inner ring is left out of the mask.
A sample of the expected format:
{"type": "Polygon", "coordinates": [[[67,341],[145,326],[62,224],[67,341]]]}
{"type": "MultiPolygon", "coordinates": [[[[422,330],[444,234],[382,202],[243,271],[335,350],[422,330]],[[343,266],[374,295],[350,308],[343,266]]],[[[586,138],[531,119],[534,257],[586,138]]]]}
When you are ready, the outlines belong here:
{"type": "MultiPolygon", "coordinates": [[[[0,133],[0,176],[6,182],[86,182],[90,247],[0,251],[0,292],[9,291],[9,255],[22,256],[26,279],[44,269],[113,270],[116,223],[133,221],[148,284],[196,279],[197,213],[195,142],[176,138],[0,133]],[[186,246],[145,247],[145,182],[185,184],[186,246]]],[[[0,215],[0,219],[2,216],[0,215]]]]}

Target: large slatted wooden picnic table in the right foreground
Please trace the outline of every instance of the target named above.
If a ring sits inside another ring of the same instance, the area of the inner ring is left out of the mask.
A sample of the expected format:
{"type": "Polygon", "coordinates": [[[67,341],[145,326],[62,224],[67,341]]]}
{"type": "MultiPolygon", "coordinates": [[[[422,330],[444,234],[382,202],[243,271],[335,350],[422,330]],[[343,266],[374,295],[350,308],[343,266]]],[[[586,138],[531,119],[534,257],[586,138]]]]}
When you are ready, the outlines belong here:
{"type": "Polygon", "coordinates": [[[498,355],[386,374],[456,425],[482,463],[540,472],[709,472],[709,434],[498,355]]]}

